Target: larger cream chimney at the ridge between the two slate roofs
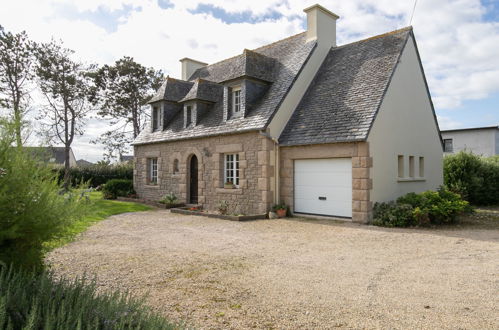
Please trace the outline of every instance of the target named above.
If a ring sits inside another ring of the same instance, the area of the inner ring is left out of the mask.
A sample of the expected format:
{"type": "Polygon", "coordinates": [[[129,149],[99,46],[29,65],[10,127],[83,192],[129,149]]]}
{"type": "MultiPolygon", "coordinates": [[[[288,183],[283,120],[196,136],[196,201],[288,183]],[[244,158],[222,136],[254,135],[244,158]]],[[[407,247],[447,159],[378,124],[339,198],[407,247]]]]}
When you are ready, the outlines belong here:
{"type": "Polygon", "coordinates": [[[336,46],[336,20],[340,17],[318,4],[303,11],[307,13],[307,41],[336,46]]]}

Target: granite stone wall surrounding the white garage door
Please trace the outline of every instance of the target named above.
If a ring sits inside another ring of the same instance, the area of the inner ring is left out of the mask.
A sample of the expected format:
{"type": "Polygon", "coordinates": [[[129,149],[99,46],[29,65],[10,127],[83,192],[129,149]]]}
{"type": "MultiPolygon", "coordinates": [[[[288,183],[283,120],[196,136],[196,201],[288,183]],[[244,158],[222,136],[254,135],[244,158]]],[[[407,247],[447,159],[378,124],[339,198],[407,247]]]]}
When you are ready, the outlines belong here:
{"type": "Polygon", "coordinates": [[[370,191],[372,179],[369,169],[372,158],[369,157],[367,142],[334,143],[280,148],[280,195],[283,202],[293,212],[293,166],[295,159],[311,158],[352,158],[352,220],[366,223],[372,219],[370,191]]]}

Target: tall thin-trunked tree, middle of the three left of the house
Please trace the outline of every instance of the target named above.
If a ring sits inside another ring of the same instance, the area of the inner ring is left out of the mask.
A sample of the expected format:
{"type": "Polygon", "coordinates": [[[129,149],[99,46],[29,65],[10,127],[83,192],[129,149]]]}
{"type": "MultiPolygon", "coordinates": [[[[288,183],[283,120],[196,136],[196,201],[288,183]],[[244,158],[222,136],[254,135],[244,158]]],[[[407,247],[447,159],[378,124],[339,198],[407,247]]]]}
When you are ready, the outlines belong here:
{"type": "Polygon", "coordinates": [[[49,140],[64,144],[64,188],[70,183],[69,152],[76,135],[83,134],[85,117],[90,111],[87,97],[90,85],[88,73],[92,66],[85,66],[71,59],[74,51],[62,43],[51,41],[42,44],[37,52],[36,74],[40,90],[48,105],[40,117],[49,140]]]}

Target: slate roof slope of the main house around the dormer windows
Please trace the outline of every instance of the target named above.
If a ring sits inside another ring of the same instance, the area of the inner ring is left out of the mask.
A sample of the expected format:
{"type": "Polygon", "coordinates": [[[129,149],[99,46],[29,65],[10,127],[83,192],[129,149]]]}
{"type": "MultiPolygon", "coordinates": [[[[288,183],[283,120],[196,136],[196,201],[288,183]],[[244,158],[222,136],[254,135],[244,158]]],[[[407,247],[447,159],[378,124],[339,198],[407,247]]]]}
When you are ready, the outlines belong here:
{"type": "MultiPolygon", "coordinates": [[[[219,98],[219,100],[211,106],[211,109],[208,110],[208,113],[202,116],[196,126],[184,129],[183,112],[179,111],[172,120],[167,123],[162,131],[151,132],[149,128],[145,128],[135,139],[133,144],[149,144],[264,129],[274,112],[277,110],[282,99],[288,93],[298,72],[314,49],[315,44],[315,41],[306,42],[306,35],[305,32],[303,32],[287,39],[254,49],[253,51],[245,51],[242,57],[236,56],[195,71],[192,77],[190,77],[191,82],[187,82],[185,85],[190,83],[192,86],[193,80],[196,78],[202,78],[215,83],[232,79],[235,74],[229,74],[228,68],[231,68],[235,63],[243,62],[246,63],[246,75],[258,76],[256,78],[262,80],[272,79],[274,82],[269,85],[269,89],[260,101],[247,109],[244,118],[224,121],[223,101],[219,98]],[[242,58],[245,58],[245,60],[243,61],[242,58]],[[253,60],[255,63],[263,63],[262,65],[265,68],[267,65],[270,66],[270,62],[273,62],[272,70],[265,69],[266,71],[272,72],[272,78],[263,77],[262,73],[258,73],[255,69],[249,70],[248,68],[253,65],[251,63],[254,63],[253,60]],[[249,66],[248,63],[250,63],[249,66]]],[[[241,71],[239,71],[238,74],[240,74],[240,72],[241,71]]],[[[177,82],[178,81],[179,80],[177,80],[177,82]]],[[[168,95],[166,90],[168,90],[169,82],[166,82],[165,84],[165,93],[163,95],[168,95]]],[[[187,92],[182,95],[181,98],[185,95],[187,95],[187,92]]],[[[158,100],[161,100],[161,95],[156,99],[156,101],[158,100]]]]}

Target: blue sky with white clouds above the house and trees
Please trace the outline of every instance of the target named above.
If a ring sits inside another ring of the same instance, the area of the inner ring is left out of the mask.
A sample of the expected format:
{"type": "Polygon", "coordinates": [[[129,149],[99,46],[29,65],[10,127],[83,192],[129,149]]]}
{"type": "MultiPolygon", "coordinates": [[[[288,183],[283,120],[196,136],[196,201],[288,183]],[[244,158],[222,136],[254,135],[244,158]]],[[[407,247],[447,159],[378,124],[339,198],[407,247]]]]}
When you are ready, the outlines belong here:
{"type": "MultiPolygon", "coordinates": [[[[412,22],[414,0],[1,0],[0,25],[87,63],[132,56],[180,78],[183,57],[214,63],[304,31],[317,2],[340,16],[338,45],[414,27],[441,129],[499,125],[499,0],[417,0],[412,22]]],[[[89,141],[108,128],[89,119],[76,158],[102,159],[89,141]]]]}

